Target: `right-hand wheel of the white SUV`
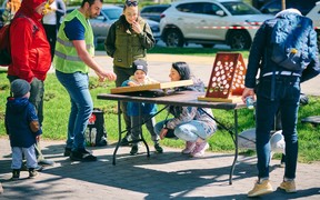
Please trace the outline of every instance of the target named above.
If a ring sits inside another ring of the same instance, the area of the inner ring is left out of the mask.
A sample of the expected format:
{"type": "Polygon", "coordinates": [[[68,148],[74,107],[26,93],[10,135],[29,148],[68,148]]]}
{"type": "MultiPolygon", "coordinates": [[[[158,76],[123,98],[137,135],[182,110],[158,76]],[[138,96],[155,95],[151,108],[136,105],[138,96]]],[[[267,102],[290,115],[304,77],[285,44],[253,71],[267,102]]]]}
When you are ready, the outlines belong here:
{"type": "Polygon", "coordinates": [[[231,49],[249,49],[251,46],[251,38],[246,31],[232,31],[229,36],[228,43],[231,49]]]}

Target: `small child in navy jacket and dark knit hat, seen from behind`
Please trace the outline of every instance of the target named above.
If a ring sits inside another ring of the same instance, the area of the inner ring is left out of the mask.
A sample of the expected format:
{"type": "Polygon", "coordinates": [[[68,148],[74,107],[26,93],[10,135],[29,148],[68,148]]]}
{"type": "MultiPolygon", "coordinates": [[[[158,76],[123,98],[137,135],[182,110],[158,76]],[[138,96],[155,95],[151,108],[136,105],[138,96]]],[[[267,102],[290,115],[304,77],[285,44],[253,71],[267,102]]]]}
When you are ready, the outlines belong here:
{"type": "Polygon", "coordinates": [[[4,124],[12,150],[12,180],[20,178],[22,153],[27,160],[29,178],[38,176],[34,143],[42,133],[36,108],[29,102],[30,84],[17,79],[11,82],[11,97],[7,99],[4,124]]]}

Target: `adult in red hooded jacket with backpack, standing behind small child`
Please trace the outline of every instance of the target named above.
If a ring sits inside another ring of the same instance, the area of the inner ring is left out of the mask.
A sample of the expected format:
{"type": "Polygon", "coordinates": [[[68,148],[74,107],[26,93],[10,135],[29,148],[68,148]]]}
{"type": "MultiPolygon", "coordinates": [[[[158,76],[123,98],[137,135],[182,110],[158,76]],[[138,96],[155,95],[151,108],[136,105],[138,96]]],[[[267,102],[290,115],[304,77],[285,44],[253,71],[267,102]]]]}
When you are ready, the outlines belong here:
{"type": "MultiPolygon", "coordinates": [[[[8,79],[23,79],[31,86],[29,101],[36,107],[39,123],[43,122],[44,80],[50,69],[50,46],[41,19],[46,0],[23,0],[10,24],[10,48],[12,62],[8,68],[8,79]]],[[[44,159],[40,143],[36,143],[40,164],[53,164],[44,159]]]]}

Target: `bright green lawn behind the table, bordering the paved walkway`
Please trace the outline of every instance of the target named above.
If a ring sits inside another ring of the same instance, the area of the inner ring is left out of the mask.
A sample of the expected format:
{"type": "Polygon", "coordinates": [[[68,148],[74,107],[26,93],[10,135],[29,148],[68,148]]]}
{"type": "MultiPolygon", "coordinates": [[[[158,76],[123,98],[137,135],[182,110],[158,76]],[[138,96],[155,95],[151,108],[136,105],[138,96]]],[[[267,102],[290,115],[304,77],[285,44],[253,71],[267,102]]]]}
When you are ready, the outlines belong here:
{"type": "MultiPolygon", "coordinates": [[[[0,71],[0,136],[6,136],[3,118],[6,108],[6,98],[9,94],[9,81],[6,78],[6,71],[0,71]]],[[[98,100],[98,93],[106,93],[110,91],[110,88],[114,87],[113,82],[100,83],[96,78],[90,78],[90,92],[96,108],[100,108],[104,111],[104,121],[108,132],[108,141],[114,142],[118,140],[118,118],[117,118],[117,104],[116,101],[98,100]]],[[[320,98],[309,97],[310,102],[308,106],[301,107],[299,111],[299,119],[317,116],[320,113],[320,98]]],[[[159,110],[162,108],[159,106],[159,110]]],[[[43,121],[43,139],[51,140],[66,140],[67,137],[67,123],[70,109],[69,96],[64,88],[58,82],[54,74],[48,74],[46,80],[46,93],[44,93],[44,121],[43,121]]],[[[228,128],[233,126],[233,111],[213,110],[217,119],[226,124],[228,128]]],[[[253,111],[248,109],[241,109],[238,111],[239,116],[239,131],[254,127],[253,111]]],[[[157,116],[157,121],[163,120],[166,112],[157,116]]],[[[123,124],[123,123],[122,123],[123,124]]],[[[310,123],[298,123],[299,131],[299,161],[312,162],[320,160],[320,134],[319,127],[313,127],[310,123]]],[[[151,143],[150,134],[147,133],[147,129],[143,127],[143,132],[147,141],[151,143]]],[[[161,141],[163,146],[174,147],[182,149],[184,142],[182,140],[164,139],[161,141]]],[[[210,150],[216,152],[232,152],[234,146],[231,137],[226,130],[221,128],[210,138],[210,150]]],[[[242,153],[250,153],[252,151],[241,151],[242,153]]],[[[279,157],[279,156],[278,156],[279,157]]]]}

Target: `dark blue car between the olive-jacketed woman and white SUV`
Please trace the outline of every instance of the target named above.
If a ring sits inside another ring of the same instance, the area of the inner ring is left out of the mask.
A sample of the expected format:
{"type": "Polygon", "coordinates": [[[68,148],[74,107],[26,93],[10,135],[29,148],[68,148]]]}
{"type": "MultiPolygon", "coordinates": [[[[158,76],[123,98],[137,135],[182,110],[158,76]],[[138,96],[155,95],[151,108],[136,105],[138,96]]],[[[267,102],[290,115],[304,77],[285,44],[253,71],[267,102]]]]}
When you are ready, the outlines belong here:
{"type": "Polygon", "coordinates": [[[160,22],[160,14],[170,7],[170,4],[153,4],[146,6],[140,10],[140,16],[144,19],[150,19],[160,22]]]}

